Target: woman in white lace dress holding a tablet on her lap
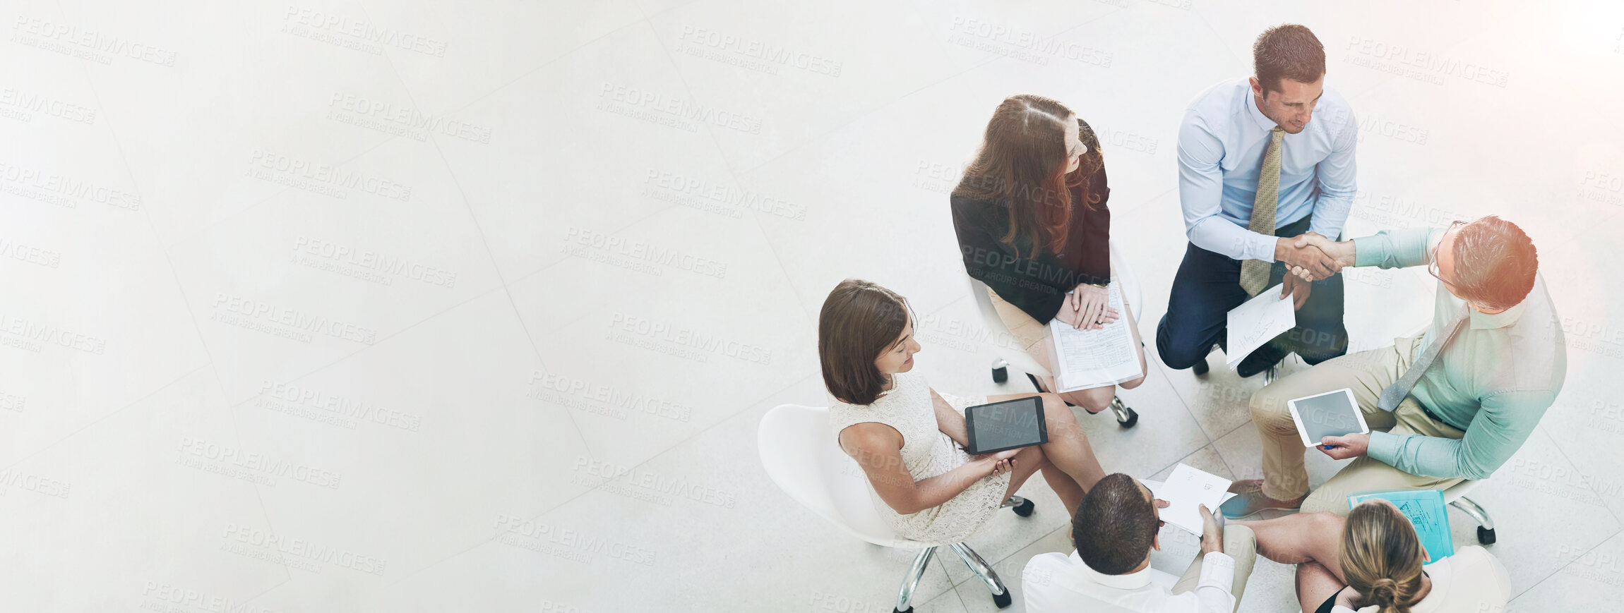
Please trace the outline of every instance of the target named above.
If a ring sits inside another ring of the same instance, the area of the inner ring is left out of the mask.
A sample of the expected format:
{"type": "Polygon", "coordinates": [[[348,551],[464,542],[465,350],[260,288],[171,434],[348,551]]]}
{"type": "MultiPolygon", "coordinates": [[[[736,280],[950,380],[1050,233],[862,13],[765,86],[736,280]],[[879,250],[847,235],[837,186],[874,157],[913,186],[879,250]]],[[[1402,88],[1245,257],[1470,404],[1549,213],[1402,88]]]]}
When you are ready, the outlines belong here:
{"type": "Polygon", "coordinates": [[[906,300],[867,281],[846,279],[818,315],[818,358],[833,402],[830,425],[874,487],[875,508],[901,537],[957,543],[974,534],[1031,477],[1077,512],[1104,470],[1077,417],[1054,394],[960,397],[909,373],[919,342],[906,300]],[[971,457],[965,409],[1041,396],[1049,443],[971,457]]]}

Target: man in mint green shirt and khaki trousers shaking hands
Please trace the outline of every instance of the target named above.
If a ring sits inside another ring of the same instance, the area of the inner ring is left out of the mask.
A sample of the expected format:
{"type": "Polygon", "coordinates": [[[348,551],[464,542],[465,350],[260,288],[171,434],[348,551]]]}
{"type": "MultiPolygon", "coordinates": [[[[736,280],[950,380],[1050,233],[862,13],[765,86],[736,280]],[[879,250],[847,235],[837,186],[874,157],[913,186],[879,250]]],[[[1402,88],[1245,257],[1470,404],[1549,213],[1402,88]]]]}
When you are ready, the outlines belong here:
{"type": "Polygon", "coordinates": [[[1562,328],[1528,235],[1489,216],[1447,229],[1301,242],[1340,266],[1427,266],[1439,279],[1432,324],[1392,347],[1328,360],[1257,391],[1250,410],[1263,478],[1236,482],[1231,491],[1239,496],[1224,503],[1224,516],[1294,508],[1346,514],[1346,496],[1356,491],[1442,490],[1488,478],[1505,464],[1567,373],[1562,328]],[[1354,461],[1309,495],[1304,444],[1286,401],[1341,388],[1353,389],[1372,431],[1319,441],[1314,449],[1354,461]]]}

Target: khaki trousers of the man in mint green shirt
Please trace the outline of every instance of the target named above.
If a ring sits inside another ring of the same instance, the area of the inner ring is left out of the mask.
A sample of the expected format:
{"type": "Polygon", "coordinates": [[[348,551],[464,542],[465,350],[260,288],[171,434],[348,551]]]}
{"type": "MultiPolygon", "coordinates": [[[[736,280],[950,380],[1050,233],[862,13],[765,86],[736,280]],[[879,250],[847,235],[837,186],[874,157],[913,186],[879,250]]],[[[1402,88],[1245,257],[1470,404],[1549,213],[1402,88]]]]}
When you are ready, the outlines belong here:
{"type": "MultiPolygon", "coordinates": [[[[1263,495],[1273,499],[1294,499],[1309,488],[1309,474],[1302,464],[1304,452],[1319,452],[1302,446],[1286,401],[1351,388],[1359,402],[1366,425],[1371,430],[1387,430],[1393,435],[1421,435],[1462,438],[1463,431],[1437,422],[1421,410],[1415,397],[1405,397],[1393,412],[1376,407],[1382,389],[1398,381],[1415,362],[1421,334],[1393,339],[1392,347],[1348,354],[1327,360],[1314,368],[1275,381],[1252,394],[1252,423],[1263,448],[1263,495]]],[[[1335,477],[1302,501],[1302,512],[1332,511],[1348,516],[1348,495],[1369,490],[1445,490],[1462,478],[1421,477],[1393,469],[1371,457],[1354,457],[1335,477]]]]}

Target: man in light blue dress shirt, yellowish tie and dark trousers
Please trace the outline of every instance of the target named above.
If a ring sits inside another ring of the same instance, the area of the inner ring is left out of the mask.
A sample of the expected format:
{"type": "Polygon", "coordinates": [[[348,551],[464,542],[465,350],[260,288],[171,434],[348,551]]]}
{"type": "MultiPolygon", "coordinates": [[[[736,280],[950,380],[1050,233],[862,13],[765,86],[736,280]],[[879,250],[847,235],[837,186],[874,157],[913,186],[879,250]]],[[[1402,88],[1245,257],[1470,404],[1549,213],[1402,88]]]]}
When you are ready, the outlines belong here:
{"type": "Polygon", "coordinates": [[[1320,363],[1348,350],[1338,268],[1294,237],[1341,235],[1358,123],[1341,94],[1324,88],[1325,49],[1307,28],[1270,28],[1252,58],[1257,76],[1207,88],[1179,126],[1179,203],[1190,243],[1156,326],[1156,350],[1166,365],[1197,375],[1213,344],[1228,350],[1228,311],[1275,285],[1294,300],[1298,326],[1241,362],[1241,376],[1289,352],[1320,363]],[[1280,143],[1273,156],[1272,143],[1280,143]],[[1314,281],[1288,274],[1288,264],[1314,281]],[[1247,268],[1257,272],[1252,289],[1242,287],[1247,268]]]}

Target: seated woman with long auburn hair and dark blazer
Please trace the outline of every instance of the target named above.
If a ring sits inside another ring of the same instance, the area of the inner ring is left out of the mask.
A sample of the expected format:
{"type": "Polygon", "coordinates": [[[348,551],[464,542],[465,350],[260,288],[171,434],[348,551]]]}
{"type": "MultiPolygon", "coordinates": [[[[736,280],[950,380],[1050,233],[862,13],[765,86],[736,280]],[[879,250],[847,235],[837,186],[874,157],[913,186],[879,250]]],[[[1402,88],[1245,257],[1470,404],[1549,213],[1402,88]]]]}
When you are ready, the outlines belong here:
{"type": "MultiPolygon", "coordinates": [[[[1145,349],[1125,300],[1111,308],[1111,209],[1104,154],[1086,122],[1064,104],[1033,94],[1010,96],[992,112],[986,138],[953,188],[953,229],[965,269],[987,285],[999,318],[1021,349],[1054,371],[1049,319],[1096,329],[1127,318],[1138,368],[1145,349]]],[[[1145,378],[1124,381],[1138,388],[1145,378]]],[[[1054,378],[1043,378],[1056,389],[1054,378]]],[[[1062,392],[1098,414],[1116,386],[1062,392]]]]}

